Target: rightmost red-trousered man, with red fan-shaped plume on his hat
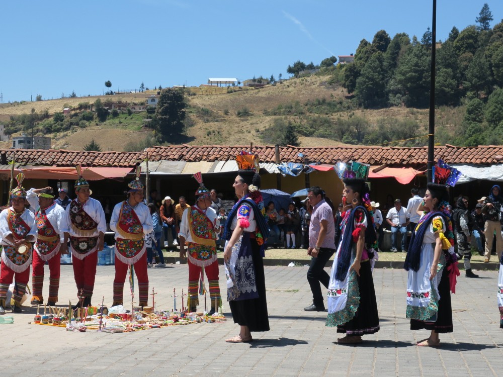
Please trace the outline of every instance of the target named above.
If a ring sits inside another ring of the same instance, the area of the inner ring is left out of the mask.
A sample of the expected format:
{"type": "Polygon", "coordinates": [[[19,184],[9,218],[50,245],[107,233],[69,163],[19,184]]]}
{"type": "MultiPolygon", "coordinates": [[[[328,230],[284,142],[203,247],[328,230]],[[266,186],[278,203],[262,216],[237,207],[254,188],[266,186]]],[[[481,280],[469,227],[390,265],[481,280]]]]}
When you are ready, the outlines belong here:
{"type": "Polygon", "coordinates": [[[203,185],[201,173],[194,174],[199,182],[196,191],[196,205],[186,209],[180,223],[180,258],[186,257],[185,244],[189,251],[189,294],[187,307],[191,312],[199,305],[198,282],[206,271],[210,289],[212,315],[221,305],[220,287],[218,285],[218,259],[216,240],[220,233],[220,222],[217,213],[211,208],[210,191],[203,185]]]}

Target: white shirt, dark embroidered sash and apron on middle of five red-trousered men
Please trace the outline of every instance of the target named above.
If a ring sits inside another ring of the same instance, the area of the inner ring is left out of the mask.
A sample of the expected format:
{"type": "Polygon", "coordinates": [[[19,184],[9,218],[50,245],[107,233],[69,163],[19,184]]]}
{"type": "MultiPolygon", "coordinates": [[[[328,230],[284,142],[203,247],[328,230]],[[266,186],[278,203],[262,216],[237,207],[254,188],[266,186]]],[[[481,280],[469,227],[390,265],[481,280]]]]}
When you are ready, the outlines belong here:
{"type": "Polygon", "coordinates": [[[98,237],[107,231],[101,203],[89,198],[83,205],[77,199],[66,207],[61,232],[70,234],[71,255],[83,259],[98,249],[98,237]]]}

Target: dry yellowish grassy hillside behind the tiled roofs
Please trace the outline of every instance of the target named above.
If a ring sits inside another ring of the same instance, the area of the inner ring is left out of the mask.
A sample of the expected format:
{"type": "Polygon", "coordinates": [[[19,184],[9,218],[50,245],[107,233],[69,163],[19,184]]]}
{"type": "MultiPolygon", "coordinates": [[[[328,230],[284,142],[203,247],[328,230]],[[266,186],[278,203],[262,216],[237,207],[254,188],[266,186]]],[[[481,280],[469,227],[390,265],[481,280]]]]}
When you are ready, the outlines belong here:
{"type": "MultiPolygon", "coordinates": [[[[346,90],[337,84],[329,84],[329,79],[330,76],[327,75],[312,75],[292,78],[262,88],[190,88],[191,95],[187,97],[190,104],[190,127],[187,129],[187,140],[184,141],[194,145],[247,145],[250,142],[265,144],[261,135],[270,132],[269,127],[277,120],[291,122],[304,130],[304,134],[299,137],[301,146],[340,145],[342,140],[337,140],[337,135],[330,134],[330,129],[342,127],[338,132],[344,133],[344,127],[352,127],[351,123],[341,123],[343,120],[351,122],[365,119],[371,129],[378,132],[379,129],[382,131],[383,122],[397,119],[411,122],[410,127],[418,135],[427,134],[428,110],[405,107],[379,110],[357,108],[354,102],[347,98],[346,90]],[[318,126],[313,124],[317,123],[322,124],[321,128],[311,133],[310,127],[314,127],[314,130],[318,126]]],[[[101,98],[103,103],[113,101],[139,104],[155,92],[150,90],[128,95],[3,104],[0,105],[0,122],[7,122],[11,115],[30,114],[32,109],[37,113],[47,111],[52,116],[65,107],[77,108],[84,102],[92,104],[97,98],[101,98]]],[[[442,142],[443,134],[451,135],[456,132],[456,125],[460,123],[463,111],[463,108],[437,110],[438,142],[442,142]]],[[[150,131],[142,127],[146,116],[146,113],[132,116],[121,114],[117,118],[109,117],[103,123],[92,121],[86,128],[74,127],[66,132],[46,136],[53,138],[54,148],[81,150],[94,139],[102,150],[122,151],[127,142],[144,139],[149,134],[150,131]]],[[[393,135],[390,135],[389,139],[393,139],[393,135]]],[[[414,145],[426,145],[426,142],[426,138],[412,141],[414,145]]],[[[408,143],[410,145],[411,142],[408,143]]],[[[10,143],[2,144],[0,145],[4,148],[10,146],[10,143]]]]}

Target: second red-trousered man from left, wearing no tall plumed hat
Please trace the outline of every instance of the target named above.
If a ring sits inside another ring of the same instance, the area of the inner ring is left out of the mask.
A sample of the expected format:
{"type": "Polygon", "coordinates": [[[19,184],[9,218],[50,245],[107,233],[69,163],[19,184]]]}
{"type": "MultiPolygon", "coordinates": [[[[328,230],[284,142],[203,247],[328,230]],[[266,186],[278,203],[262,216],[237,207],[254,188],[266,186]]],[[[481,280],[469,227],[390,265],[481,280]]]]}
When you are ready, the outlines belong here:
{"type": "Polygon", "coordinates": [[[32,305],[42,305],[44,298],[42,288],[44,284],[44,264],[49,264],[49,298],[47,305],[54,306],[58,301],[59,273],[61,271],[61,259],[59,249],[63,241],[61,221],[65,212],[63,207],[54,203],[52,187],[45,189],[30,189],[26,193],[26,200],[35,212],[37,225],[37,241],[33,253],[32,273],[32,305]]]}

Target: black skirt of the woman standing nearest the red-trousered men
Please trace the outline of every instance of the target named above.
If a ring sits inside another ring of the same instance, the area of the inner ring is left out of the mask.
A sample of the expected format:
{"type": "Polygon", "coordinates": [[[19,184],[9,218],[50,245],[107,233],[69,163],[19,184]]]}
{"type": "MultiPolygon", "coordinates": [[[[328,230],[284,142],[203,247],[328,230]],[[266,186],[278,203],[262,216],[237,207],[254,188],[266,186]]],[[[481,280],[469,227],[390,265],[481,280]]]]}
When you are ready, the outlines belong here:
{"type": "Polygon", "coordinates": [[[255,266],[255,283],[259,298],[250,300],[229,301],[234,323],[248,326],[250,331],[269,331],[267,314],[266,279],[264,261],[260,255],[260,246],[255,238],[250,239],[251,259],[255,266]]]}

